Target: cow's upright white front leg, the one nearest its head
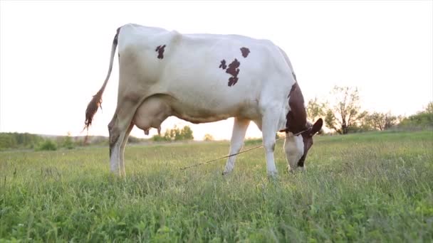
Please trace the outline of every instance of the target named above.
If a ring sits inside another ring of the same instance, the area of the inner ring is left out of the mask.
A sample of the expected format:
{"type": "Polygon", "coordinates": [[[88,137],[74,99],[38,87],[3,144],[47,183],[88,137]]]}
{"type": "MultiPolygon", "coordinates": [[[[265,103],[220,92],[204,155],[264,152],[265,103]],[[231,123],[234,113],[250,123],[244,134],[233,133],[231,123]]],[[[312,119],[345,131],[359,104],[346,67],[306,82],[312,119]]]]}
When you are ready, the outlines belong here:
{"type": "Polygon", "coordinates": [[[268,109],[262,118],[263,145],[266,154],[266,168],[268,175],[274,177],[277,175],[273,151],[275,150],[276,132],[278,131],[279,113],[277,109],[268,109]]]}

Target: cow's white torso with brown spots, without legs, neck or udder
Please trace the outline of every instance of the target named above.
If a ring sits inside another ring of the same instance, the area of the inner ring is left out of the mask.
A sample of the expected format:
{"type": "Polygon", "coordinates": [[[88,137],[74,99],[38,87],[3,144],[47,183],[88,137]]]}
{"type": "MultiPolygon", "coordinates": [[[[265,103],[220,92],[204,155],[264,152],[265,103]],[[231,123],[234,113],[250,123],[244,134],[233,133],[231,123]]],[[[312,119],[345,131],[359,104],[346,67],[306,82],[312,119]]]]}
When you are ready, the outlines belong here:
{"type": "Polygon", "coordinates": [[[264,96],[282,101],[293,85],[279,48],[246,36],[181,34],[131,24],[120,31],[119,53],[121,72],[125,68],[140,77],[130,85],[146,90],[147,97],[168,95],[192,117],[207,114],[218,120],[239,112],[257,117],[264,96]]]}

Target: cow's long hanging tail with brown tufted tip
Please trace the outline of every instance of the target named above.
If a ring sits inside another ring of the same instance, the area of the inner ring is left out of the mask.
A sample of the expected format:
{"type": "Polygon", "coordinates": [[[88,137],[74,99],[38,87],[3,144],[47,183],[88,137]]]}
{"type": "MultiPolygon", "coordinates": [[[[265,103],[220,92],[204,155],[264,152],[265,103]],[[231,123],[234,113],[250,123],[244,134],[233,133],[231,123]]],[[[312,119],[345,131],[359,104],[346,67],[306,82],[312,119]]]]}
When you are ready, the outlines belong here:
{"type": "Polygon", "coordinates": [[[118,31],[116,32],[116,35],[114,36],[113,39],[113,45],[111,46],[110,67],[108,68],[107,77],[105,77],[103,87],[100,87],[100,90],[96,93],[96,95],[93,95],[92,100],[87,105],[87,109],[85,109],[84,129],[88,129],[89,126],[92,124],[93,116],[98,111],[98,108],[101,107],[101,104],[103,103],[103,92],[105,90],[105,86],[108,83],[108,79],[110,79],[111,70],[113,69],[113,60],[114,60],[116,47],[118,46],[119,31],[120,28],[118,28],[118,31]]]}

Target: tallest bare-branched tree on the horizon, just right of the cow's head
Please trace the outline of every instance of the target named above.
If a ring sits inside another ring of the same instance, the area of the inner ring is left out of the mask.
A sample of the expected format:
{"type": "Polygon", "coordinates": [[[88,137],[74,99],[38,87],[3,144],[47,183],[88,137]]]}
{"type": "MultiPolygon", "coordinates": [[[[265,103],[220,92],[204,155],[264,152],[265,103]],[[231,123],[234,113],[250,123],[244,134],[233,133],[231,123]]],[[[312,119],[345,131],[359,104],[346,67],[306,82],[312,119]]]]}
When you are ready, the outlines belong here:
{"type": "Polygon", "coordinates": [[[335,103],[325,113],[325,124],[338,134],[348,134],[350,128],[358,126],[367,115],[360,109],[358,88],[335,86],[330,95],[335,103]]]}

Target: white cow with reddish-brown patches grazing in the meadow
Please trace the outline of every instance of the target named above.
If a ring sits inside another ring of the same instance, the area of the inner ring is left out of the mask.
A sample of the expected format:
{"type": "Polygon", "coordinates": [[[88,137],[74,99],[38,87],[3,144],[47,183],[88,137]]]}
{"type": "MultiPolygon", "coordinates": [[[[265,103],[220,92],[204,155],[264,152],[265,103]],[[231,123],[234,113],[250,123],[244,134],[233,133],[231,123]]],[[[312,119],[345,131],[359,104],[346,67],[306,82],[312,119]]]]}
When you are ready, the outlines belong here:
{"type": "MultiPolygon", "coordinates": [[[[169,116],[194,124],[234,117],[230,154],[244,144],[250,121],[263,133],[268,175],[276,175],[276,132],[286,131],[284,150],[291,170],[303,168],[313,135],[323,124],[306,119],[303,95],[290,60],[271,41],[246,36],[181,34],[127,24],[118,28],[105,82],[85,112],[92,123],[119,54],[118,106],[108,124],[110,169],[125,174],[123,153],[132,126],[147,134],[169,116]]],[[[224,174],[234,168],[226,162],[224,174]]]]}

